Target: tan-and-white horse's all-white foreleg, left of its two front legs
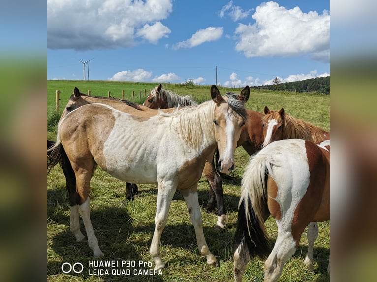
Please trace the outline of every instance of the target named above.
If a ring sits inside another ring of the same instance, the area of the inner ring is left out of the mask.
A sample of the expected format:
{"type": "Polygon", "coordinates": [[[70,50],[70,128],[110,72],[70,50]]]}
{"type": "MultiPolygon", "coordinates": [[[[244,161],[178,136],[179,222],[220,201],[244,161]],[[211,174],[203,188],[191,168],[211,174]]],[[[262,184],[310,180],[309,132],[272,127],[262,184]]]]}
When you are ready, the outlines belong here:
{"type": "Polygon", "coordinates": [[[176,187],[174,187],[171,184],[158,184],[155,232],[153,233],[152,243],[149,249],[149,254],[155,262],[155,269],[162,269],[165,267],[165,263],[163,262],[160,256],[159,244],[161,240],[162,230],[166,226],[170,203],[173,199],[175,191],[176,187]]]}

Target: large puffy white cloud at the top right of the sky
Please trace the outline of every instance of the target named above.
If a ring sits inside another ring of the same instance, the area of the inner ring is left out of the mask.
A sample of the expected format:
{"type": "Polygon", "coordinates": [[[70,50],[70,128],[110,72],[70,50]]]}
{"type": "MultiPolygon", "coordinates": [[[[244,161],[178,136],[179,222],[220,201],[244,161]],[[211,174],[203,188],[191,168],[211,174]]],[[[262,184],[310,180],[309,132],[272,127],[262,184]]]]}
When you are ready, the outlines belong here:
{"type": "Polygon", "coordinates": [[[275,2],[262,3],[252,18],[255,24],[236,28],[236,50],[246,57],[301,56],[329,62],[330,15],[323,11],[303,13],[299,7],[286,9],[275,2]]]}

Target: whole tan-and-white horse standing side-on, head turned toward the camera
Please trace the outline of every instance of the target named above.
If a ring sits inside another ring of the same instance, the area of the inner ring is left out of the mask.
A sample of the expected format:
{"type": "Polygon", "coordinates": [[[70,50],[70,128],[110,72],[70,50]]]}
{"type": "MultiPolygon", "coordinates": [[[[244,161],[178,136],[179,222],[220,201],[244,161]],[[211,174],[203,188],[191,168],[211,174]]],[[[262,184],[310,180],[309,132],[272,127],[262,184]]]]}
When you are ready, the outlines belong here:
{"type": "Polygon", "coordinates": [[[205,160],[219,149],[219,169],[234,169],[234,151],[241,127],[247,120],[248,95],[221,96],[215,85],[212,100],[197,107],[160,112],[155,116],[124,113],[105,104],[83,105],[68,113],[59,123],[54,160],[67,170],[75,187],[69,187],[70,230],[76,241],[80,231],[79,210],[94,256],[102,256],[90,220],[89,185],[95,168],[130,183],[158,185],[155,231],[150,255],[155,269],[162,269],[159,243],[176,189],[185,199],[195,229],[198,250],[207,263],[216,265],[203,234],[197,185],[205,160]],[[151,130],[153,129],[153,130],[151,130]],[[158,142],[157,142],[157,141],[158,142]]]}

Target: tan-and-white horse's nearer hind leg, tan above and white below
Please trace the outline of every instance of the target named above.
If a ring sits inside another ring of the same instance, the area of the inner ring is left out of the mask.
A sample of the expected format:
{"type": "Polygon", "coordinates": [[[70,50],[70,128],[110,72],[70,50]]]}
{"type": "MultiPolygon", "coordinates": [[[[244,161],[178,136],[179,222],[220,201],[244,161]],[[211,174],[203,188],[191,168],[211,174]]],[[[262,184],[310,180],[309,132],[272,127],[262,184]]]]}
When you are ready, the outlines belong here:
{"type": "Polygon", "coordinates": [[[96,168],[96,164],[94,160],[88,165],[89,169],[79,168],[76,169],[76,184],[77,184],[77,191],[80,195],[80,199],[82,204],[80,204],[80,214],[84,222],[85,231],[87,232],[88,236],[88,244],[89,247],[92,249],[94,256],[102,256],[103,253],[98,246],[97,237],[94,235],[94,230],[92,226],[92,222],[90,219],[90,198],[89,198],[89,183],[96,168]]]}

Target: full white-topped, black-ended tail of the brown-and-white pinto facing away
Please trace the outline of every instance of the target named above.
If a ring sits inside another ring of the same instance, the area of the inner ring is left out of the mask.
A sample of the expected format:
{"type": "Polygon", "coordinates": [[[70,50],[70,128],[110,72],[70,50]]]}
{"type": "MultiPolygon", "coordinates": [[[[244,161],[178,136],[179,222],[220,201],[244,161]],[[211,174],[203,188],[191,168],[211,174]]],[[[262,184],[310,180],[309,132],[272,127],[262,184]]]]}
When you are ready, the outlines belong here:
{"type": "MultiPolygon", "coordinates": [[[[237,250],[240,244],[254,255],[265,258],[270,253],[270,240],[264,225],[264,214],[268,211],[266,198],[266,179],[271,168],[271,163],[264,155],[251,157],[245,168],[242,179],[241,198],[238,205],[237,227],[234,235],[233,248],[237,250]]],[[[247,254],[240,254],[246,258],[247,254]]]]}

